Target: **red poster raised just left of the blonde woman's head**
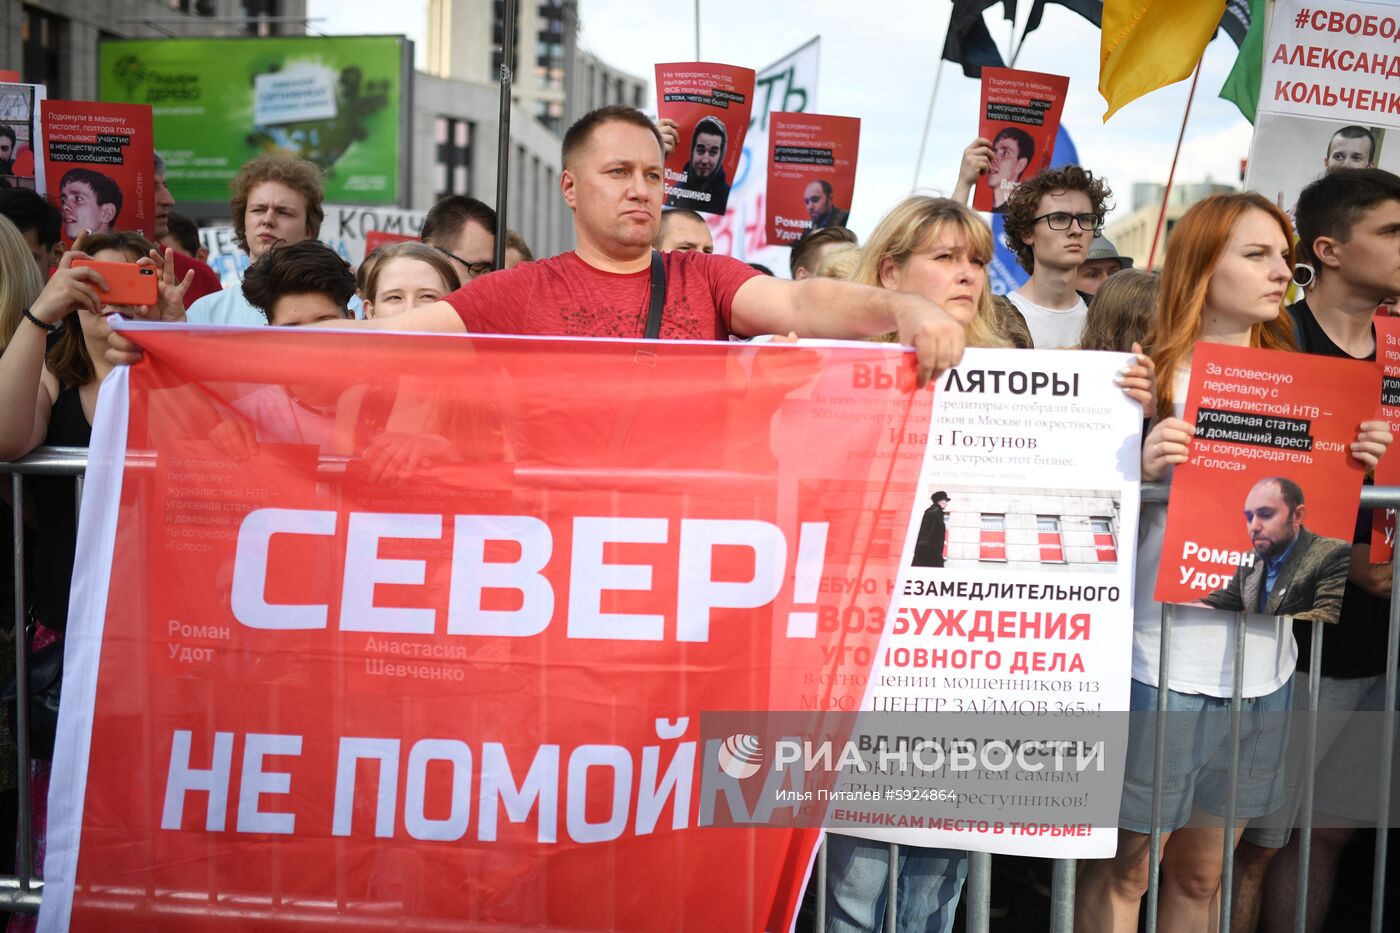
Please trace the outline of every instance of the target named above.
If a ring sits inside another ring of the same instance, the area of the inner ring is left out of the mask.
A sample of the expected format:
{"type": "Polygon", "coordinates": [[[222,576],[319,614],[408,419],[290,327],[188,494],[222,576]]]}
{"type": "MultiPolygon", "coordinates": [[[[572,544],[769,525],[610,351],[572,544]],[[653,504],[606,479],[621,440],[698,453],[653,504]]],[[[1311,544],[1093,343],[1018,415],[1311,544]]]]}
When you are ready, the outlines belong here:
{"type": "Polygon", "coordinates": [[[773,113],[769,122],[769,242],[844,227],[855,192],[861,122],[854,116],[773,113]]]}

